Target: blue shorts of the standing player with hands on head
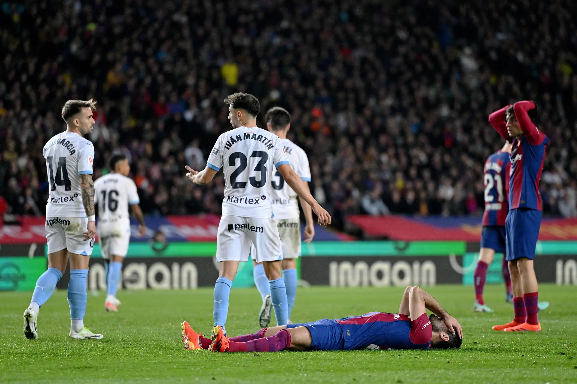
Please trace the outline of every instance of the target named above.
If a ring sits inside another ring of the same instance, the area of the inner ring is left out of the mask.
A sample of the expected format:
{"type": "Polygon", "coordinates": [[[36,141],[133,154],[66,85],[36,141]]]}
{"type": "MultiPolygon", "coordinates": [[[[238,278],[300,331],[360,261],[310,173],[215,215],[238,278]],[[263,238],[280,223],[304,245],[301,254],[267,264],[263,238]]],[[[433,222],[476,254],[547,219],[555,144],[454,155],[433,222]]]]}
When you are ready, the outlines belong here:
{"type": "Polygon", "coordinates": [[[533,260],[541,228],[541,211],[531,208],[510,210],[505,220],[507,260],[527,257],[533,260]]]}

